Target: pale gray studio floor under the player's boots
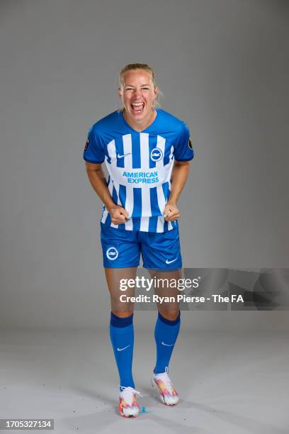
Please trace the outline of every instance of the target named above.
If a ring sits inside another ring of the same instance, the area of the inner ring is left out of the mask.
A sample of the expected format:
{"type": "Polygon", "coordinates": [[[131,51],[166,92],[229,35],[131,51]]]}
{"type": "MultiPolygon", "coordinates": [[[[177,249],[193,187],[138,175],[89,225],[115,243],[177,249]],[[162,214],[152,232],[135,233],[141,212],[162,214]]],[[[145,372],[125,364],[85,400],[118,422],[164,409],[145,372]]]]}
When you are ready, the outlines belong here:
{"type": "Polygon", "coordinates": [[[169,370],[181,401],[170,408],[150,384],[153,332],[136,330],[142,411],[126,419],[108,330],[1,331],[0,418],[52,418],[60,434],[288,434],[288,344],[285,332],[181,330],[169,370]]]}

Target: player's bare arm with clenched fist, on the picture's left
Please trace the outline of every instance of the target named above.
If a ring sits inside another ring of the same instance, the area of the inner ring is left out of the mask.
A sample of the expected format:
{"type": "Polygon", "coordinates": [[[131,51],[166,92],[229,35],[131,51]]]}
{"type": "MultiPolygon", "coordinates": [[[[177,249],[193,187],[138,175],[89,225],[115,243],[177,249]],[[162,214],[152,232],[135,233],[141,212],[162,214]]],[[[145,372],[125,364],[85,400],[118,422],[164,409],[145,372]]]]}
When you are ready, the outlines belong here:
{"type": "Polygon", "coordinates": [[[103,172],[101,164],[85,162],[86,173],[89,177],[92,188],[96,191],[98,197],[103,201],[106,209],[111,214],[111,221],[115,225],[125,223],[128,218],[128,212],[122,206],[116,205],[111,197],[111,193],[106,185],[106,175],[103,172]]]}

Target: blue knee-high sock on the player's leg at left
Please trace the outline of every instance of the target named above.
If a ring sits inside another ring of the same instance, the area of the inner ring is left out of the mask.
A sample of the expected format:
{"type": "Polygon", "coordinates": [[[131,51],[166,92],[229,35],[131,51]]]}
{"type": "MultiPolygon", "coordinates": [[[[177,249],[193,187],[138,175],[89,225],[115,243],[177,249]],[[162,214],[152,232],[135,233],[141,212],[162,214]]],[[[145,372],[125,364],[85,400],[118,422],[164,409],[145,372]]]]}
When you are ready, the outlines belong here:
{"type": "Polygon", "coordinates": [[[110,336],[113,345],[120,386],[131,386],[135,389],[132,379],[132,352],[134,343],[133,313],[128,318],[120,318],[111,312],[110,336]]]}

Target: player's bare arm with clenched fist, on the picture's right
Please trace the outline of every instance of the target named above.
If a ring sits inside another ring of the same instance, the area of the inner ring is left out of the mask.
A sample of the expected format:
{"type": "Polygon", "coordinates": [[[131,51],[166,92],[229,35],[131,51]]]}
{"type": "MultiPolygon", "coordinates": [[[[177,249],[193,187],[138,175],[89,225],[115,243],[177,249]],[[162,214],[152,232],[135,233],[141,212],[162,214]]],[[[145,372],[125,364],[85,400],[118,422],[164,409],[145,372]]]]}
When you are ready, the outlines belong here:
{"type": "Polygon", "coordinates": [[[169,195],[169,200],[164,207],[164,219],[166,221],[175,221],[180,216],[180,211],[176,204],[178,203],[181,191],[186,184],[189,170],[190,161],[174,161],[174,167],[171,173],[171,194],[169,195]]]}

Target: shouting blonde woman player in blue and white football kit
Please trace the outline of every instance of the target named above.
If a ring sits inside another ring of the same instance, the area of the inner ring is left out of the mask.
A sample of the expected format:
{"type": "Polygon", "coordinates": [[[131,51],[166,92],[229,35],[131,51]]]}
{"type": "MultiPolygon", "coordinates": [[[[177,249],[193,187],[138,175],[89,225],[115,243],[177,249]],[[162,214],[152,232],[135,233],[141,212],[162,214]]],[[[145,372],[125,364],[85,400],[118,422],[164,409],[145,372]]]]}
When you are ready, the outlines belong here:
{"type": "MultiPolygon", "coordinates": [[[[126,65],[119,79],[123,107],[89,129],[84,160],[91,186],[103,201],[101,245],[111,294],[110,337],[120,376],[119,410],[129,417],[139,413],[136,395],[140,392],[132,377],[134,305],[120,301],[120,279],[136,277],[140,252],[152,277],[180,277],[177,201],[188,177],[193,148],[186,124],[159,108],[159,88],[151,67],[126,65]]],[[[176,295],[176,289],[169,287],[155,291],[176,295]]],[[[125,294],[133,296],[134,289],[125,294]]],[[[179,402],[168,368],[179,328],[179,304],[158,304],[153,380],[169,406],[179,402]]]]}

